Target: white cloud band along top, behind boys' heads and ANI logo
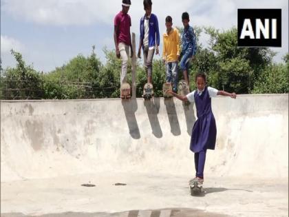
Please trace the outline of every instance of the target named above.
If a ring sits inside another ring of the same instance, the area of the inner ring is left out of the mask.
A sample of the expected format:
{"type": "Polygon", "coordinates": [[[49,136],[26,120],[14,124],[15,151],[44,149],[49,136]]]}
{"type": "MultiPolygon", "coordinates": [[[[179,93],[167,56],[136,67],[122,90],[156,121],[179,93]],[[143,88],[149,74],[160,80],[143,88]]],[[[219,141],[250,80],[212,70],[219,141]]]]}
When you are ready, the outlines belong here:
{"type": "MultiPolygon", "coordinates": [[[[120,0],[2,0],[3,12],[15,19],[24,19],[43,25],[113,25],[114,16],[121,9],[120,0]]],[[[194,25],[212,25],[230,28],[237,24],[237,8],[283,8],[288,12],[288,1],[272,0],[154,0],[153,13],[157,14],[160,28],[164,30],[164,19],[173,17],[175,25],[182,26],[181,14],[188,11],[194,25]]],[[[138,32],[140,17],[144,14],[142,1],[132,1],[129,14],[132,30],[138,32]]],[[[288,15],[287,20],[288,23],[288,15]]],[[[288,25],[287,25],[288,26],[288,25]]]]}

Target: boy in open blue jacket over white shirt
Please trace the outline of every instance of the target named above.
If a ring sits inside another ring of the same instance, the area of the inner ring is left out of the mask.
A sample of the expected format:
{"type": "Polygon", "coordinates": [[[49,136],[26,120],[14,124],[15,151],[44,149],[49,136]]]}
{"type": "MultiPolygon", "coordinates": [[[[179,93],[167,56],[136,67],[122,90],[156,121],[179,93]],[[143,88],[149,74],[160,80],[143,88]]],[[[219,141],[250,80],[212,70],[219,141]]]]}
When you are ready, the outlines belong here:
{"type": "Polygon", "coordinates": [[[140,19],[140,45],[138,47],[138,58],[140,49],[144,53],[144,67],[147,72],[147,83],[152,83],[153,54],[159,54],[160,31],[158,29],[158,18],[151,13],[151,0],[144,0],[144,17],[140,19]]]}

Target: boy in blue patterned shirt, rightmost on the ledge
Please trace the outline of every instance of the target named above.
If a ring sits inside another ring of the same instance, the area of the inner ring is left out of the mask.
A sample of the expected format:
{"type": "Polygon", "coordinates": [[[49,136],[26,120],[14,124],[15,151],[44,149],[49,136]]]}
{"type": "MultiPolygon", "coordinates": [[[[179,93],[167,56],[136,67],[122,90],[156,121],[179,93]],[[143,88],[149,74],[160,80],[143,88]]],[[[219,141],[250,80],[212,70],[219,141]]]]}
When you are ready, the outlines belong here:
{"type": "Polygon", "coordinates": [[[180,61],[180,68],[184,74],[184,80],[189,84],[189,61],[195,59],[197,52],[197,43],[193,27],[189,25],[189,14],[182,13],[182,24],[184,25],[184,32],[182,33],[182,59],[180,61]]]}

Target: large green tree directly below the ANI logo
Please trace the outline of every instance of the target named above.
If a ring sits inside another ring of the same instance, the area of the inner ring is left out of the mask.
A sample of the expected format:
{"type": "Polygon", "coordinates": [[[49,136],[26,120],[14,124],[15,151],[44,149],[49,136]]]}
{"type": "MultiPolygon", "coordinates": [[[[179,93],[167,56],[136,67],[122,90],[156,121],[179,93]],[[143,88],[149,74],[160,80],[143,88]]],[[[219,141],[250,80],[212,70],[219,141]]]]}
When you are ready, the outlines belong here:
{"type": "MultiPolygon", "coordinates": [[[[248,94],[265,68],[272,63],[274,52],[268,48],[239,48],[237,28],[222,31],[204,28],[210,36],[206,52],[212,67],[206,67],[208,78],[218,89],[248,94]]],[[[202,56],[204,58],[204,56],[202,56]]],[[[204,61],[200,61],[201,63],[204,61]]]]}

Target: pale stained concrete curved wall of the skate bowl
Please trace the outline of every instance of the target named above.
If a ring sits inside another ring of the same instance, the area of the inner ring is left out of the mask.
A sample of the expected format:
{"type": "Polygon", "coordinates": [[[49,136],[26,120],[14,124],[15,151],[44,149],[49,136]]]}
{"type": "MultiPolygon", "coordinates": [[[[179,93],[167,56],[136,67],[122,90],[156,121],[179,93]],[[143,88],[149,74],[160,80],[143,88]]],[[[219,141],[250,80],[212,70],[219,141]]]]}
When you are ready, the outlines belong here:
{"type": "MultiPolygon", "coordinates": [[[[288,177],[288,94],[212,99],[208,176],[288,177]]],[[[195,105],[177,99],[1,101],[1,182],[96,172],[194,173],[195,105]]]]}

